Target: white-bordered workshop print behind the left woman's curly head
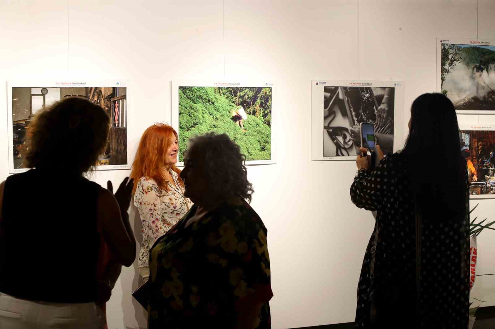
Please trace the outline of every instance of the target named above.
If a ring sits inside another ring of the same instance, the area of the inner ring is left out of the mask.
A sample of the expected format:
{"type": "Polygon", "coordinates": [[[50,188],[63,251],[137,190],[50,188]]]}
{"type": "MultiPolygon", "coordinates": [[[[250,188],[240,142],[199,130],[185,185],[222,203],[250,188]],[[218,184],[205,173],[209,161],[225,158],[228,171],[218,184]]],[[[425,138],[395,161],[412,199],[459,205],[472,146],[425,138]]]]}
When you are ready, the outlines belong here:
{"type": "MultiPolygon", "coordinates": [[[[126,82],[114,81],[7,82],[9,173],[28,170],[24,165],[25,138],[36,114],[66,97],[86,98],[101,106],[110,117],[108,140],[97,170],[129,169],[127,88],[126,82]]],[[[65,151],[59,150],[60,162],[64,161],[65,151]]]]}

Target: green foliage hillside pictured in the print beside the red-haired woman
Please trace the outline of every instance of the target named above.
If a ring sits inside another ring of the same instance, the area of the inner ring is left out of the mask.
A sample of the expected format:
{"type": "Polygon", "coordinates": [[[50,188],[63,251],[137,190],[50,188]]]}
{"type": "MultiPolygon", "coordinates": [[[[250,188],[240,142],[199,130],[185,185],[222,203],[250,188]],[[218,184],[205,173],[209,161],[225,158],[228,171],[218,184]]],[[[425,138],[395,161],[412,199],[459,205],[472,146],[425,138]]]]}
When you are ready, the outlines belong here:
{"type": "Polygon", "coordinates": [[[271,159],[271,88],[180,87],[179,161],[184,161],[187,140],[210,131],[226,133],[247,160],[271,159]],[[232,110],[245,108],[242,131],[232,110]]]}

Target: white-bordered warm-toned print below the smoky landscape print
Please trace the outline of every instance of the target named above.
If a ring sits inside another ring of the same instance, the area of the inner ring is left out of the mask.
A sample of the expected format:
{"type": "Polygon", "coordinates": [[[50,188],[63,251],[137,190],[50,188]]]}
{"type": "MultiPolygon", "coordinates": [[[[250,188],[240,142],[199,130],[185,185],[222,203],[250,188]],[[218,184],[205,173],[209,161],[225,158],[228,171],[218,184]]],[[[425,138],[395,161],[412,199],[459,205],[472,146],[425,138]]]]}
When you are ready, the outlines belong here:
{"type": "Polygon", "coordinates": [[[459,124],[470,199],[495,198],[495,126],[459,124]]]}

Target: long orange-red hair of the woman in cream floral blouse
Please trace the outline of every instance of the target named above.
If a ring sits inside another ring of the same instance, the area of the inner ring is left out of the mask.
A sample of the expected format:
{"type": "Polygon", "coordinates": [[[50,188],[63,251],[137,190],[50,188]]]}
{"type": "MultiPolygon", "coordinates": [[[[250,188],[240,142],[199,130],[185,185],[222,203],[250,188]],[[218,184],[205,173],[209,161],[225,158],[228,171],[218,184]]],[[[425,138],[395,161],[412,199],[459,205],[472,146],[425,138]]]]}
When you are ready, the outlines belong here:
{"type": "MultiPolygon", "coordinates": [[[[172,142],[172,133],[175,135],[175,138],[178,138],[177,131],[170,125],[155,123],[149,126],[143,133],[143,136],[141,136],[130,175],[130,178],[134,178],[133,193],[136,192],[136,187],[141,177],[153,179],[160,188],[168,191],[163,166],[165,163],[165,152],[172,142]]],[[[181,173],[181,170],[175,164],[172,165],[172,170],[177,174],[181,173]]],[[[179,183],[184,186],[184,182],[180,176],[179,183]]]]}

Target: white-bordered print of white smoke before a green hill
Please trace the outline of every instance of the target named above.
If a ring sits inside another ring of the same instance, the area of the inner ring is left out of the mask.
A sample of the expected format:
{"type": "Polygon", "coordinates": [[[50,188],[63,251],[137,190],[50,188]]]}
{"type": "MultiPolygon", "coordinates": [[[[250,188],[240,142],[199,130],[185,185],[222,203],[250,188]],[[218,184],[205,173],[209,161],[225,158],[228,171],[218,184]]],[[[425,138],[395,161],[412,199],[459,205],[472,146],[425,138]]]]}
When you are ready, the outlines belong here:
{"type": "Polygon", "coordinates": [[[495,113],[495,41],[438,39],[437,90],[457,113],[495,113]]]}

